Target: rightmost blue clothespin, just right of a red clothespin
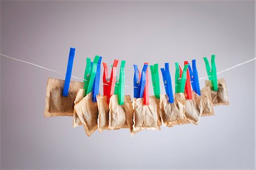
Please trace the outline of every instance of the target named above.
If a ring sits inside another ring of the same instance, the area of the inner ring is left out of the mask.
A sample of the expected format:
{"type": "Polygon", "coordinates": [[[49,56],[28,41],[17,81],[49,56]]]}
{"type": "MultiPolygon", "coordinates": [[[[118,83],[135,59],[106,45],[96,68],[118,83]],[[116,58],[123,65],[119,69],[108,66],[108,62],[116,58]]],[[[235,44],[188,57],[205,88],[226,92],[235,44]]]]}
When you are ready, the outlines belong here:
{"type": "Polygon", "coordinates": [[[188,65],[189,69],[189,74],[190,74],[190,80],[191,80],[191,85],[192,89],[199,95],[201,96],[200,92],[200,85],[199,85],[199,78],[198,78],[198,73],[196,69],[196,60],[192,60],[192,68],[190,64],[188,65]],[[193,71],[192,71],[193,69],[193,71]]]}

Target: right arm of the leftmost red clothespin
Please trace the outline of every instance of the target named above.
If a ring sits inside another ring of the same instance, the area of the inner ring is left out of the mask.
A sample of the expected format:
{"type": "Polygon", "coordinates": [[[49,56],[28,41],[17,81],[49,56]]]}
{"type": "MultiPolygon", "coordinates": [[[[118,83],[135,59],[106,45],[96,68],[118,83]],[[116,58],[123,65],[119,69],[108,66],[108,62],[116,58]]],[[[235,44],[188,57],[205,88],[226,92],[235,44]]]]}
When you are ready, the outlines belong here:
{"type": "Polygon", "coordinates": [[[115,90],[115,80],[117,78],[117,64],[118,64],[118,60],[114,60],[114,64],[112,67],[112,72],[110,75],[110,81],[109,81],[109,86],[108,86],[108,102],[110,97],[114,94],[114,90],[115,90]]]}

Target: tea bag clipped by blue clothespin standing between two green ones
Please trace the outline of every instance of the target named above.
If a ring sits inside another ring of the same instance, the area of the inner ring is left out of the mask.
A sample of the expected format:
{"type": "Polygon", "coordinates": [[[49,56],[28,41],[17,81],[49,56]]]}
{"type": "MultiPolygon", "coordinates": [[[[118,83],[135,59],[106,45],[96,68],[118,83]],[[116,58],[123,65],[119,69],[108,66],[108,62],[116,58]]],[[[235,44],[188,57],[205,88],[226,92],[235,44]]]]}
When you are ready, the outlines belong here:
{"type": "Polygon", "coordinates": [[[160,117],[164,126],[173,127],[185,117],[185,95],[174,94],[174,103],[168,101],[166,94],[160,94],[160,117]]]}

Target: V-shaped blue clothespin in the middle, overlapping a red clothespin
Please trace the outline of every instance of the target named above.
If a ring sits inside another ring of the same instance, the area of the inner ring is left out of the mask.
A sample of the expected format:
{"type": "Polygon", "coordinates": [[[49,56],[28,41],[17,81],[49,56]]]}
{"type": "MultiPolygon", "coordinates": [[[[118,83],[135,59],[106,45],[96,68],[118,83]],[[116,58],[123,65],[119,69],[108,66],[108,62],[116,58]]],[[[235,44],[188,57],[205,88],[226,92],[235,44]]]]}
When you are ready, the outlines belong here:
{"type": "Polygon", "coordinates": [[[145,85],[146,85],[146,71],[148,64],[144,63],[142,73],[141,73],[141,78],[139,78],[139,71],[138,71],[138,66],[134,66],[134,78],[133,78],[133,85],[134,85],[134,98],[142,98],[145,85]]]}

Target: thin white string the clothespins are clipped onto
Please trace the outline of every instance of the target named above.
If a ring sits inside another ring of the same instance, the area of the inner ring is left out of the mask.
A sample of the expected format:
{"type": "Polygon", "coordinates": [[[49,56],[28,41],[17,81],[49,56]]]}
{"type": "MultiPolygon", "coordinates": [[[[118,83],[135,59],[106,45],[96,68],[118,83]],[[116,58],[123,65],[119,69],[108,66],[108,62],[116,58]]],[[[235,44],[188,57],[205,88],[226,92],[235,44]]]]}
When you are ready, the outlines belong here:
{"type": "MultiPolygon", "coordinates": [[[[6,57],[6,58],[8,58],[8,59],[20,61],[20,62],[22,62],[22,63],[27,63],[27,64],[30,64],[30,65],[34,65],[35,67],[39,67],[39,68],[42,68],[42,69],[46,69],[47,71],[51,71],[51,72],[55,72],[55,73],[59,73],[59,74],[65,75],[65,73],[62,73],[62,72],[59,72],[59,71],[55,71],[55,70],[53,70],[53,69],[49,69],[49,68],[46,68],[46,67],[43,67],[42,65],[30,63],[30,62],[24,61],[24,60],[19,60],[19,59],[16,59],[16,58],[14,58],[14,57],[10,57],[10,56],[4,55],[4,54],[2,54],[2,53],[0,53],[0,55],[3,56],[3,57],[6,57]]],[[[234,65],[233,67],[226,68],[226,69],[224,69],[223,71],[217,72],[217,74],[221,74],[221,73],[223,73],[223,72],[229,71],[230,69],[234,69],[234,68],[240,67],[241,65],[250,63],[251,61],[254,61],[254,60],[256,60],[256,57],[254,57],[253,59],[247,60],[247,61],[245,61],[245,62],[243,62],[243,63],[239,63],[239,64],[237,64],[237,65],[234,65]]],[[[80,78],[80,77],[76,77],[76,76],[71,76],[71,77],[76,78],[76,79],[79,79],[79,80],[83,80],[83,81],[88,81],[88,80],[85,80],[84,78],[80,78]]],[[[204,80],[204,79],[206,79],[206,78],[208,78],[208,77],[201,77],[201,78],[199,78],[199,80],[204,80]]],[[[101,84],[102,84],[102,85],[108,85],[108,84],[104,84],[104,83],[101,83],[101,84]]],[[[134,86],[125,86],[125,87],[126,87],[126,88],[137,88],[137,87],[134,87],[134,86]]],[[[161,87],[164,87],[164,86],[161,86],[161,87]]]]}

